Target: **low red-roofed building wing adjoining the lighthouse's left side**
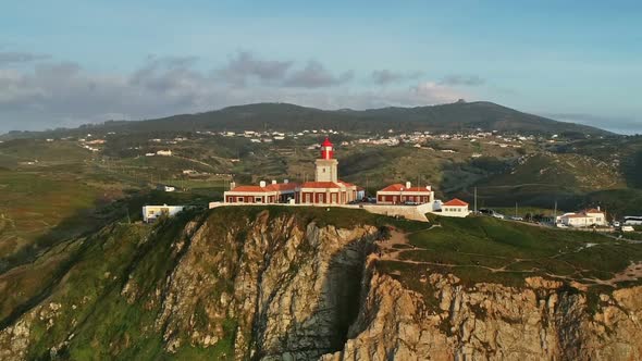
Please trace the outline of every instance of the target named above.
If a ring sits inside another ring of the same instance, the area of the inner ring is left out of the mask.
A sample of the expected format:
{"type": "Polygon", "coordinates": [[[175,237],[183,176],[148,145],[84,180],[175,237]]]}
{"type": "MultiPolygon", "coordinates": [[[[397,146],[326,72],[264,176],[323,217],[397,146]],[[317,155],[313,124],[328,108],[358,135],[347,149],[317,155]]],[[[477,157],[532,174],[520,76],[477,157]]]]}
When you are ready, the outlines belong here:
{"type": "Polygon", "coordinates": [[[272,184],[260,182],[258,186],[233,187],[223,194],[225,203],[287,203],[296,202],[297,184],[272,180],[272,184]]]}

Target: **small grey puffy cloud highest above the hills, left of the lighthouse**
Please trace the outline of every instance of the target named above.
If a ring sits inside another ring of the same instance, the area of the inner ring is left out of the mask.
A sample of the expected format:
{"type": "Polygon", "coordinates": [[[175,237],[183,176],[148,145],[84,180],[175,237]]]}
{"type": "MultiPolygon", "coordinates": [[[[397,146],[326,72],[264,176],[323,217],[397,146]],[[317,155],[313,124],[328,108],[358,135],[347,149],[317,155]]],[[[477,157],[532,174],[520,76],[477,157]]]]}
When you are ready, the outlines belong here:
{"type": "Polygon", "coordinates": [[[292,61],[260,60],[251,52],[239,51],[229,59],[224,67],[217,70],[215,74],[235,85],[245,85],[254,78],[270,83],[282,80],[292,64],[292,61]]]}

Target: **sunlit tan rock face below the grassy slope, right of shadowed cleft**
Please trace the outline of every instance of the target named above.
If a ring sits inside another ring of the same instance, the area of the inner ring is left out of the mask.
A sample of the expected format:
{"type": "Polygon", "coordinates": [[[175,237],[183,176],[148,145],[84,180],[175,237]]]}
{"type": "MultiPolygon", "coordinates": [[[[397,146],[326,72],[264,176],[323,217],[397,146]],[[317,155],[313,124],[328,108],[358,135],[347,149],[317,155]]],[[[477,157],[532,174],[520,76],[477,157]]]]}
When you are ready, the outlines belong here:
{"type": "Polygon", "coordinates": [[[374,273],[345,348],[322,360],[639,360],[641,287],[604,295],[594,314],[561,284],[462,287],[452,275],[428,283],[439,307],[374,273]],[[635,296],[638,295],[638,296],[635,296]],[[607,299],[605,302],[604,300],[607,299]]]}

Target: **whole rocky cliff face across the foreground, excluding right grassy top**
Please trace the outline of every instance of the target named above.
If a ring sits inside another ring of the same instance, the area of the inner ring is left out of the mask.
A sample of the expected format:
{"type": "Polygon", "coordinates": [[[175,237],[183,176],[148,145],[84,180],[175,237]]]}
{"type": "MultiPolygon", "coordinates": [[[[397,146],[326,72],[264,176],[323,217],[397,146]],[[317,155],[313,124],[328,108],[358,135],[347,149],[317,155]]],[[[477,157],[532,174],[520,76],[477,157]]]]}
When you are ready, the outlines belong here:
{"type": "Polygon", "coordinates": [[[593,299],[429,269],[409,286],[379,266],[380,228],[287,212],[127,229],[83,244],[53,291],[0,331],[0,359],[642,358],[642,287],[593,299]]]}

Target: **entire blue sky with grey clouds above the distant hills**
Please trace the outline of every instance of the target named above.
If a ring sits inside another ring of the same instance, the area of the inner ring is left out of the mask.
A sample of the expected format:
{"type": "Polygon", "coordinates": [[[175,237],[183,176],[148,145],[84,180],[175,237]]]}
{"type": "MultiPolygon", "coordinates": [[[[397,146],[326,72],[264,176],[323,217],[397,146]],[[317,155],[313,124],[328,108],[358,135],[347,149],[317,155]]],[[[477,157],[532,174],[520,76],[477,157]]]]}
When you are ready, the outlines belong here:
{"type": "Polygon", "coordinates": [[[0,133],[252,102],[493,101],[642,133],[642,2],[0,3],[0,133]]]}

